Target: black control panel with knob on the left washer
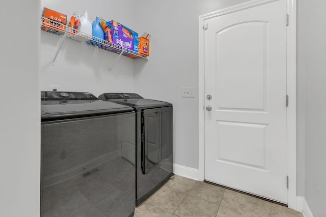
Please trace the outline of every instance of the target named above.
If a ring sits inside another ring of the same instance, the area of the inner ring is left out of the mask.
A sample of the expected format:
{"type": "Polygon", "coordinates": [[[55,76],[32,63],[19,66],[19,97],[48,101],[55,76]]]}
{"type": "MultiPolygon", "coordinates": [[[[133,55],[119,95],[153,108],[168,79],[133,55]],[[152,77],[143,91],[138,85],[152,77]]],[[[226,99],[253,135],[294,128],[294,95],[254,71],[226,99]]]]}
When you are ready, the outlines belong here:
{"type": "Polygon", "coordinates": [[[41,100],[98,100],[89,92],[41,91],[41,100]]]}

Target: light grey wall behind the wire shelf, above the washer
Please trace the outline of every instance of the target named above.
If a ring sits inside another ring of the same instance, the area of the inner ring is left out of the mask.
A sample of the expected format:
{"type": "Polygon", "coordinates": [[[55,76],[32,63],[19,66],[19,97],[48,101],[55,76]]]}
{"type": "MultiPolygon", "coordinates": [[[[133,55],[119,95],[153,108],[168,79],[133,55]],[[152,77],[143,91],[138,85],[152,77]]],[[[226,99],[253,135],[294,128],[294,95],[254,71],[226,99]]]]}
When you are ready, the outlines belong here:
{"type": "MultiPolygon", "coordinates": [[[[40,15],[43,7],[64,13],[68,20],[73,12],[83,14],[88,10],[90,20],[101,16],[105,20],[115,19],[137,32],[134,21],[135,1],[45,1],[41,0],[40,15]]],[[[118,54],[101,50],[87,44],[66,39],[56,60],[55,56],[60,37],[41,31],[40,49],[40,88],[48,90],[49,85],[58,85],[59,91],[88,91],[98,96],[103,92],[132,92],[134,90],[133,59],[121,56],[111,70],[118,54]]]]}

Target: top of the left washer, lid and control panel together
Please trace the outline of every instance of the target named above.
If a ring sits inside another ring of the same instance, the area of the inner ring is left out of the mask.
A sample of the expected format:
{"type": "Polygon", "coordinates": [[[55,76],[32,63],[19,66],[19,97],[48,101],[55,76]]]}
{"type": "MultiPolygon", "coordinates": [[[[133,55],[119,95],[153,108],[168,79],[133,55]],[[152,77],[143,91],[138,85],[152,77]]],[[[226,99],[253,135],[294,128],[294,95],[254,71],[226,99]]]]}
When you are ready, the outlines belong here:
{"type": "Polygon", "coordinates": [[[41,120],[130,112],[125,105],[98,100],[88,92],[41,92],[41,120]]]}

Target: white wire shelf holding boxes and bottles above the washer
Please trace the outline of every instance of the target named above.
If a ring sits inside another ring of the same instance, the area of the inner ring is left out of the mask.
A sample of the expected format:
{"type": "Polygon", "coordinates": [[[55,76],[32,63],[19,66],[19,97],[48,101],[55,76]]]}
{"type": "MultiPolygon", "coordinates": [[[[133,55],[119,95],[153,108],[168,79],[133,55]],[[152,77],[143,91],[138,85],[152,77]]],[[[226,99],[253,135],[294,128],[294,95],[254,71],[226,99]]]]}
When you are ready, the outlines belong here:
{"type": "Polygon", "coordinates": [[[41,17],[41,29],[56,35],[64,35],[66,32],[67,37],[71,38],[72,40],[86,42],[89,45],[98,47],[103,50],[115,52],[122,54],[124,56],[130,58],[144,58],[147,59],[148,57],[142,53],[138,53],[119,45],[115,45],[103,39],[97,38],[95,36],[88,35],[86,33],[80,32],[74,28],[71,28],[63,23],[50,20],[45,17],[41,17]]]}

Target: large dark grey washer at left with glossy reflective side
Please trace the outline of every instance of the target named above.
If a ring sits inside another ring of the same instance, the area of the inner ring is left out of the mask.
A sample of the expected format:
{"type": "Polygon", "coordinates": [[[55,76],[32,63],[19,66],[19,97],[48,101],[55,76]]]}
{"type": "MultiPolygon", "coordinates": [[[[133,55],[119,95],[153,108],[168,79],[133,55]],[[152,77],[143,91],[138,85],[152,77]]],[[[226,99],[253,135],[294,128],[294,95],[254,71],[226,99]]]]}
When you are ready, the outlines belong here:
{"type": "Polygon", "coordinates": [[[134,132],[131,107],[41,91],[41,216],[133,216],[134,132]]]}

